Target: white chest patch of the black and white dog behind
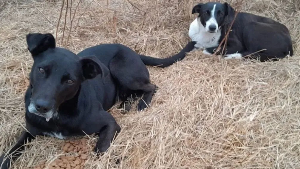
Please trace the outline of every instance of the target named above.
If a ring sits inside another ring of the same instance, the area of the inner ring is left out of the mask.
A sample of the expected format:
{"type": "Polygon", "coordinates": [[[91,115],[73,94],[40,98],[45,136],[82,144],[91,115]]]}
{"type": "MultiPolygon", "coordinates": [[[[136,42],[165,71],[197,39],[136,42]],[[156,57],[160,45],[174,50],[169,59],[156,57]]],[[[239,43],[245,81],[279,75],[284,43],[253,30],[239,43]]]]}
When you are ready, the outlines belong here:
{"type": "Polygon", "coordinates": [[[221,37],[221,29],[217,33],[209,33],[205,31],[205,27],[199,23],[200,20],[196,18],[191,24],[189,29],[189,37],[192,41],[196,41],[195,47],[204,49],[208,47],[216,47],[219,45],[221,37]]]}

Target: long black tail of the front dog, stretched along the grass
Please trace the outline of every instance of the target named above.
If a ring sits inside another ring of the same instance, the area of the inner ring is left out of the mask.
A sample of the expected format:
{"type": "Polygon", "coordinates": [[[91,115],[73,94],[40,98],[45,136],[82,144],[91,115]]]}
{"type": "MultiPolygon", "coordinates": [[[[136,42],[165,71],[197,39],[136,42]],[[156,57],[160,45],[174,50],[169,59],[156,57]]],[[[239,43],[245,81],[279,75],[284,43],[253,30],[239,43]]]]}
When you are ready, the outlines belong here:
{"type": "Polygon", "coordinates": [[[189,42],[185,47],[176,55],[171,56],[169,58],[160,59],[160,58],[152,58],[150,56],[139,55],[145,65],[149,66],[158,66],[161,68],[168,67],[173,63],[184,59],[186,54],[194,49],[195,41],[189,42]]]}

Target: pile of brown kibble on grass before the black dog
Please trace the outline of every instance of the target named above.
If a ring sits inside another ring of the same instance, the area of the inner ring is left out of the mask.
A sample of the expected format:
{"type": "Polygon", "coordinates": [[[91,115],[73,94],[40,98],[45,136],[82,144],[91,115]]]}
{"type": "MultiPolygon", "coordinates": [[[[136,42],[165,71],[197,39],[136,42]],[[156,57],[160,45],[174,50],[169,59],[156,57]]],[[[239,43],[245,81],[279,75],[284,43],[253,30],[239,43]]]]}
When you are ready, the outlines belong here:
{"type": "MultiPolygon", "coordinates": [[[[49,169],[83,169],[88,158],[87,153],[91,151],[87,144],[87,139],[65,141],[61,147],[64,153],[72,153],[75,155],[61,155],[49,164],[49,169]]],[[[34,169],[44,169],[48,165],[41,162],[34,169]]]]}

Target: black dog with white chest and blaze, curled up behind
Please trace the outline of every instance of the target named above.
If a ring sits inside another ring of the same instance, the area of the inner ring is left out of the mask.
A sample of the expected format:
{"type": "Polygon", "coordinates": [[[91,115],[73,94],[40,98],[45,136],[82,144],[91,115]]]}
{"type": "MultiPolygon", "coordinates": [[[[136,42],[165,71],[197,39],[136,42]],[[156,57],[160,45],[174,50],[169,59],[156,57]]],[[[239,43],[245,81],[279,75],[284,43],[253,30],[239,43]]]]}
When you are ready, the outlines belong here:
{"type": "MultiPolygon", "coordinates": [[[[194,13],[199,16],[190,24],[189,37],[197,42],[195,49],[203,49],[203,53],[210,55],[226,35],[235,10],[228,3],[208,2],[194,6],[194,13]]],[[[222,49],[223,45],[216,54],[220,55],[222,49]]],[[[289,30],[283,24],[240,12],[232,25],[225,52],[224,59],[260,58],[264,62],[292,56],[293,47],[289,30]]]]}

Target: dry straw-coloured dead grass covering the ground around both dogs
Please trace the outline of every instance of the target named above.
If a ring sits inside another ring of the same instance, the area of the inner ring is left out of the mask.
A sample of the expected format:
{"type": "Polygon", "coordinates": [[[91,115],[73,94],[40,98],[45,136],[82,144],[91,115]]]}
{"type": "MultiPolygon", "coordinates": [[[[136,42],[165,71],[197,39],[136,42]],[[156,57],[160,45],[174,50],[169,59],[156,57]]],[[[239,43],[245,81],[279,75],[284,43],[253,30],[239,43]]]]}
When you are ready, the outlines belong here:
{"type": "MultiPolygon", "coordinates": [[[[72,11],[78,1],[72,1],[72,11]]],[[[0,1],[1,154],[24,127],[23,95],[33,63],[25,35],[55,35],[61,3],[0,1]]],[[[196,3],[82,0],[68,43],[71,21],[66,19],[61,43],[62,12],[57,42],[74,52],[95,44],[122,43],[139,53],[167,57],[189,41],[189,24],[195,18],[191,9],[196,3]]],[[[169,68],[149,68],[152,82],[160,87],[151,107],[143,112],[132,109],[126,115],[113,107],[111,113],[122,132],[100,160],[88,159],[85,168],[299,168],[300,3],[247,0],[242,11],[285,24],[294,56],[256,63],[194,52],[169,68]]],[[[95,139],[91,137],[91,146],[95,139]]],[[[54,161],[62,142],[38,137],[12,168],[54,161]]]]}

